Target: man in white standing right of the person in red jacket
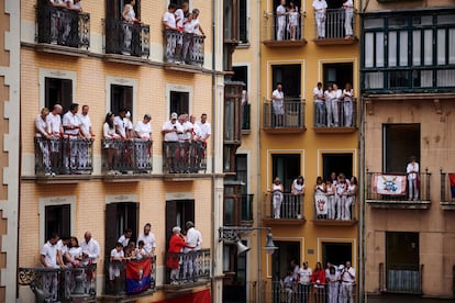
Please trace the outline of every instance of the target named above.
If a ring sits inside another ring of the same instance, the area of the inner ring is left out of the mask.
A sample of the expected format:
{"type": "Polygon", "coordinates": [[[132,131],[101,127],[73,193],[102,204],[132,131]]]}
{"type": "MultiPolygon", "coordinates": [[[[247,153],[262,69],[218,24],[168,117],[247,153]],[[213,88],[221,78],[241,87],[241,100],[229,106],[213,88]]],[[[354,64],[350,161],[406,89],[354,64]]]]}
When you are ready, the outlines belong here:
{"type": "Polygon", "coordinates": [[[195,228],[195,223],[188,221],[185,224],[187,228],[187,247],[184,249],[185,256],[184,277],[185,279],[192,279],[195,282],[198,279],[199,272],[199,257],[197,251],[201,250],[202,235],[201,232],[195,228]]]}

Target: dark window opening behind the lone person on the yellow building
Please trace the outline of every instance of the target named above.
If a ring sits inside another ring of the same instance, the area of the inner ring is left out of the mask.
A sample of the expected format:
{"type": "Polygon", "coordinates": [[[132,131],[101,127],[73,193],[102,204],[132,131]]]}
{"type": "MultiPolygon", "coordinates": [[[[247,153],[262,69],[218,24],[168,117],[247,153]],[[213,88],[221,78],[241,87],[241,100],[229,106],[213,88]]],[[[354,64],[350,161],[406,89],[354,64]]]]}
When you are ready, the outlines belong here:
{"type": "MultiPolygon", "coordinates": [[[[285,99],[301,97],[301,65],[274,65],[271,67],[271,87],[282,85],[285,99]]],[[[271,91],[270,91],[271,96],[271,91]]]]}

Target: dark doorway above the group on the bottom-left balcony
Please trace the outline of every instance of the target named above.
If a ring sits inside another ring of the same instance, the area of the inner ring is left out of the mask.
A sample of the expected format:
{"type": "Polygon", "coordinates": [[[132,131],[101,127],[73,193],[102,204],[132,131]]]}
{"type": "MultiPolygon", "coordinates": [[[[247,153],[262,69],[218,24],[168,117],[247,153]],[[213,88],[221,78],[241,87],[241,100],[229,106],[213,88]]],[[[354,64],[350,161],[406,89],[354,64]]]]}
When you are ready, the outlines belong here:
{"type": "Polygon", "coordinates": [[[52,233],[57,233],[59,237],[71,236],[71,205],[48,205],[45,206],[44,243],[47,242],[52,233]]]}

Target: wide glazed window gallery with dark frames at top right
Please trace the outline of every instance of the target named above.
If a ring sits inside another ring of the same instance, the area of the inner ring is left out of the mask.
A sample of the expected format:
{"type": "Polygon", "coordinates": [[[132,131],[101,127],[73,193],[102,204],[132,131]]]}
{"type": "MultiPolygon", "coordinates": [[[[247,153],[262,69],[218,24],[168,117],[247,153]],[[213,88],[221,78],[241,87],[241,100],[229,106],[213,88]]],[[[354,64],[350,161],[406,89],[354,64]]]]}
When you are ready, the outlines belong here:
{"type": "Polygon", "coordinates": [[[428,92],[454,88],[454,19],[453,10],[367,14],[363,89],[428,92]]]}

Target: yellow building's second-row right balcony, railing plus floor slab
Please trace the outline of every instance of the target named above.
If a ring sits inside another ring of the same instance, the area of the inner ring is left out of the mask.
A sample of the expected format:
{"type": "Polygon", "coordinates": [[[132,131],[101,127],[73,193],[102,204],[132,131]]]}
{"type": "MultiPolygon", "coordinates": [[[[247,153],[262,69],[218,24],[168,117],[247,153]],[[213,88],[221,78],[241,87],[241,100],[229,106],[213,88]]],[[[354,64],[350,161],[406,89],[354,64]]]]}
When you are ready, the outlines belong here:
{"type": "Polygon", "coordinates": [[[341,100],[335,104],[335,109],[332,104],[332,123],[328,126],[328,108],[325,102],[321,105],[313,105],[313,130],[318,134],[340,134],[340,133],[354,133],[357,131],[357,100],[353,102],[345,102],[341,100]],[[335,123],[334,123],[335,122],[335,123]],[[336,123],[337,122],[337,123],[336,123]]]}

